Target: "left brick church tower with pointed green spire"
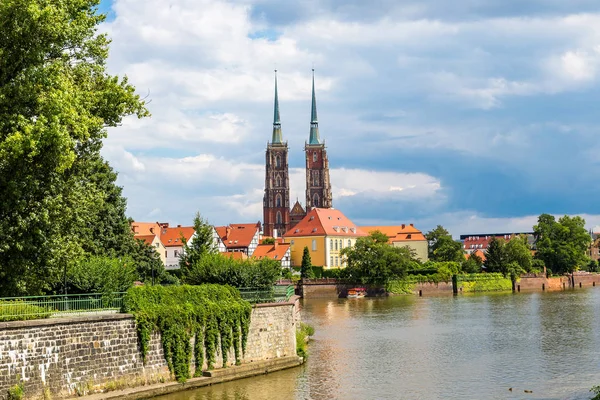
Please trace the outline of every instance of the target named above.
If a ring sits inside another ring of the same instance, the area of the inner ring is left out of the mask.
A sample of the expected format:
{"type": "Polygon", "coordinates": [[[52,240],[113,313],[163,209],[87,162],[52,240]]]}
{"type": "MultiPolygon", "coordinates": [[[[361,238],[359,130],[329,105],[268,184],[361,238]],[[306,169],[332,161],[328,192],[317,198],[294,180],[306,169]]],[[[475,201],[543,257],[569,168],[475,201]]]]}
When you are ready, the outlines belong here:
{"type": "Polygon", "coordinates": [[[273,136],[267,143],[265,163],[265,194],[263,197],[263,234],[281,237],[290,228],[290,181],[288,147],[281,134],[277,70],[275,70],[275,110],[273,136]]]}

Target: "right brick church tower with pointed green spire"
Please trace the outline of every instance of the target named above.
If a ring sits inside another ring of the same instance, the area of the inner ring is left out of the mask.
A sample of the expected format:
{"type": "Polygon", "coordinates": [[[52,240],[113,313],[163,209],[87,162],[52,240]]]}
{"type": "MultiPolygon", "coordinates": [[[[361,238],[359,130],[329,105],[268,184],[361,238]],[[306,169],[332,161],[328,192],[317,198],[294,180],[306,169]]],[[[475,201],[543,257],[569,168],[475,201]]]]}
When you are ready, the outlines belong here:
{"type": "Polygon", "coordinates": [[[306,212],[312,208],[331,208],[331,182],[329,160],[325,143],[319,138],[317,100],[315,97],[315,70],[313,69],[312,109],[310,137],[304,145],[306,153],[306,212]]]}

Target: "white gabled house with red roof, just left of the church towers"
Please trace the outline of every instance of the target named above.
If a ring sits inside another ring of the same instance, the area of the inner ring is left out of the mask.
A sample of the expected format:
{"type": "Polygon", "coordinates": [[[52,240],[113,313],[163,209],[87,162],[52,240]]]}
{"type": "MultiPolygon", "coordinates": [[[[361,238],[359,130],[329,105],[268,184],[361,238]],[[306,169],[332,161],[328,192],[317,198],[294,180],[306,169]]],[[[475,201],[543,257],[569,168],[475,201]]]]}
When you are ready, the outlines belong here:
{"type": "Polygon", "coordinates": [[[251,257],[258,246],[261,223],[215,226],[213,240],[219,252],[242,252],[251,257]]]}

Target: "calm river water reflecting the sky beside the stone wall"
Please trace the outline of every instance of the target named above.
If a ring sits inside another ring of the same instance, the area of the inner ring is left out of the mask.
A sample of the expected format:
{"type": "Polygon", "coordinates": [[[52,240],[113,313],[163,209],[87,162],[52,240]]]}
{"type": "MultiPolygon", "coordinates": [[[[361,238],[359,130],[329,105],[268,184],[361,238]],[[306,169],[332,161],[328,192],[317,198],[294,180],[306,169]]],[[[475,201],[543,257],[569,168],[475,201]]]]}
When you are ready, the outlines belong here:
{"type": "Polygon", "coordinates": [[[302,307],[304,366],[161,399],[562,400],[600,385],[600,288],[302,307]]]}

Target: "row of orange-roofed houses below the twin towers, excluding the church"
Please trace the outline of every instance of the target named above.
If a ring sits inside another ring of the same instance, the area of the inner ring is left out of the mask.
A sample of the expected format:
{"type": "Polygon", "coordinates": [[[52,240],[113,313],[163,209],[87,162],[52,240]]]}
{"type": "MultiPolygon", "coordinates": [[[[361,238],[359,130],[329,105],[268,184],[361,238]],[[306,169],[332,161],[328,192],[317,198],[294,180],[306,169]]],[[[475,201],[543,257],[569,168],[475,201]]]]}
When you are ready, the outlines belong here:
{"type": "MultiPolygon", "coordinates": [[[[192,226],[169,226],[163,222],[133,222],[134,236],[158,252],[166,269],[178,269],[184,245],[190,245],[196,232],[192,226]]],[[[281,238],[265,236],[260,222],[213,227],[213,246],[235,259],[270,258],[282,267],[300,266],[304,247],[310,251],[314,266],[343,268],[341,251],[375,230],[386,234],[392,246],[409,247],[427,261],[427,240],[413,224],[401,226],[356,226],[341,211],[313,208],[281,238]],[[266,243],[268,242],[268,243],[266,243]]]]}

